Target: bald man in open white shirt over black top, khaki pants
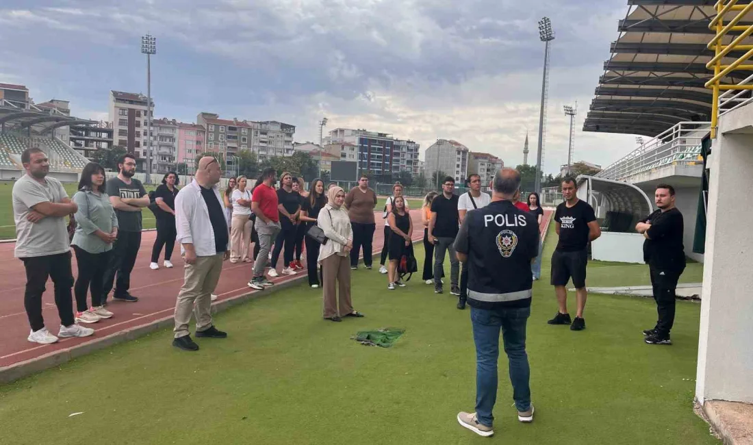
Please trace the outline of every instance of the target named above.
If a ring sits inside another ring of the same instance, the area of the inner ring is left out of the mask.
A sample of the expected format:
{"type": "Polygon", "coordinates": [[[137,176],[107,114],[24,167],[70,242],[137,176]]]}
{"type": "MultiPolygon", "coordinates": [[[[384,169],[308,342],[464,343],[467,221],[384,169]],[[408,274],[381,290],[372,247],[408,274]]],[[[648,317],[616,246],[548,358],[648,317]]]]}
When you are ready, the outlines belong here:
{"type": "Polygon", "coordinates": [[[175,302],[172,346],[184,351],[199,350],[188,331],[192,312],[196,314],[197,337],[227,337],[227,333],[212,325],[210,312],[222,261],[230,258],[227,220],[217,186],[221,176],[217,160],[202,157],[194,181],[175,197],[175,228],[186,265],[183,287],[175,302]]]}

